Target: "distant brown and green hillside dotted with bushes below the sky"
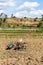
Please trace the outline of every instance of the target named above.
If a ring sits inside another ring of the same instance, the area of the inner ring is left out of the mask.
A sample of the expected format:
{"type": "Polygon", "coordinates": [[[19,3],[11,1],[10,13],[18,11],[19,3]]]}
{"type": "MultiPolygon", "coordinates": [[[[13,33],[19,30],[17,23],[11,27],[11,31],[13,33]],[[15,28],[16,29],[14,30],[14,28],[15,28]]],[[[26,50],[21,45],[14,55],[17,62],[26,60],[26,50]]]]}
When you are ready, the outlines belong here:
{"type": "Polygon", "coordinates": [[[37,27],[39,18],[0,18],[0,28],[37,27]]]}

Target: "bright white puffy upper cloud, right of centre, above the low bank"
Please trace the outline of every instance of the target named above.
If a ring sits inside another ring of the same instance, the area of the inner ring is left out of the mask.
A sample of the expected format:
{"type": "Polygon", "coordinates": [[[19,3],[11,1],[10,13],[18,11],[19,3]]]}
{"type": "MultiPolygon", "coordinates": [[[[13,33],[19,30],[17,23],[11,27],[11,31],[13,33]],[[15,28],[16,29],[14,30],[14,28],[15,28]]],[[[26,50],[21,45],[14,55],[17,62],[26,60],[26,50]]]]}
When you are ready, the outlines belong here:
{"type": "Polygon", "coordinates": [[[34,8],[37,8],[40,4],[38,2],[24,2],[22,5],[18,7],[18,10],[26,10],[31,9],[34,10],[34,8]]]}

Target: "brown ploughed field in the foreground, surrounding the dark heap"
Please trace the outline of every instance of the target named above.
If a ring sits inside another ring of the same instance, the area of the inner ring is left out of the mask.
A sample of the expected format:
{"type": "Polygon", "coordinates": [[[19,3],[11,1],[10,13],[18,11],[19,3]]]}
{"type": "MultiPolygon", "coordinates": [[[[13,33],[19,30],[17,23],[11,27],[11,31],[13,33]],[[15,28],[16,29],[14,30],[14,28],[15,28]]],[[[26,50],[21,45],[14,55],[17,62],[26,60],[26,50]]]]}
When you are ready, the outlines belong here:
{"type": "Polygon", "coordinates": [[[0,31],[0,65],[43,65],[43,33],[0,31]],[[12,41],[26,42],[26,49],[6,50],[12,41]]]}

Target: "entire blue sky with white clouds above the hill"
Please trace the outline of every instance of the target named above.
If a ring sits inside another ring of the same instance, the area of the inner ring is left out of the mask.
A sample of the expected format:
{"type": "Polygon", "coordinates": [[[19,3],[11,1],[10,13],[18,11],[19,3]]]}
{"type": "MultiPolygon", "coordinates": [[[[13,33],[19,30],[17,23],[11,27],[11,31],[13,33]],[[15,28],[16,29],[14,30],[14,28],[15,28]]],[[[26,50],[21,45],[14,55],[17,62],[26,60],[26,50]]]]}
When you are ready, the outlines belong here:
{"type": "Polygon", "coordinates": [[[8,17],[41,17],[43,14],[43,0],[0,0],[0,14],[8,17]]]}

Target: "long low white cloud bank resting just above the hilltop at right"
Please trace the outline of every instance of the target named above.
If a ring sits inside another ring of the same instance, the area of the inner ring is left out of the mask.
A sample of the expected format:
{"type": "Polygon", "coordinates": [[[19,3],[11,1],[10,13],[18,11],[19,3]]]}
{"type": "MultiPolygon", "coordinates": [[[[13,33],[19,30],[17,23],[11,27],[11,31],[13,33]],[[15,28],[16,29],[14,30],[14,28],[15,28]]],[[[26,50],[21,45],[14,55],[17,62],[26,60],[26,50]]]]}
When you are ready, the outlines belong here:
{"type": "Polygon", "coordinates": [[[22,17],[41,17],[43,14],[43,10],[31,10],[29,11],[19,11],[15,13],[16,17],[22,18],[22,17]]]}

